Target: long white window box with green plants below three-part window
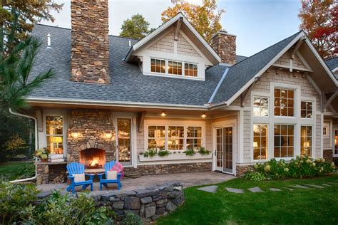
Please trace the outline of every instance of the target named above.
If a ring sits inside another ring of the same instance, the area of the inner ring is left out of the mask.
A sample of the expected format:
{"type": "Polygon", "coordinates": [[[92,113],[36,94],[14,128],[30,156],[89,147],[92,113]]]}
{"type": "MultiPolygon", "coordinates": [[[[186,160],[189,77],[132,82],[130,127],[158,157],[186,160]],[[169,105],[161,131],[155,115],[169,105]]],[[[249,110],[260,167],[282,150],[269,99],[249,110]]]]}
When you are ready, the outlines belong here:
{"type": "Polygon", "coordinates": [[[156,161],[172,161],[172,160],[189,160],[189,159],[211,159],[210,151],[205,150],[205,147],[200,147],[197,150],[156,150],[148,149],[145,152],[140,152],[138,159],[140,162],[156,162],[156,161]]]}

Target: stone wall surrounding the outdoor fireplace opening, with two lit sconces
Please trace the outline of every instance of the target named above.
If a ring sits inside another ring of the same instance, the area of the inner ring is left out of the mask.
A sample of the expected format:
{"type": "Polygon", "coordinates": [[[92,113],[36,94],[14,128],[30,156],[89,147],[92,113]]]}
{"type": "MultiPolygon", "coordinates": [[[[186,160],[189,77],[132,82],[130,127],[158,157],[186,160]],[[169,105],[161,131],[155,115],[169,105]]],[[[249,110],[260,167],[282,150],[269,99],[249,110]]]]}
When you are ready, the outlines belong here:
{"type": "Polygon", "coordinates": [[[106,151],[106,161],[116,159],[116,135],[111,110],[75,109],[71,111],[71,122],[67,134],[68,162],[79,162],[80,152],[89,148],[106,151]],[[78,132],[78,137],[72,137],[78,132]],[[111,138],[106,137],[111,133],[111,138]]]}

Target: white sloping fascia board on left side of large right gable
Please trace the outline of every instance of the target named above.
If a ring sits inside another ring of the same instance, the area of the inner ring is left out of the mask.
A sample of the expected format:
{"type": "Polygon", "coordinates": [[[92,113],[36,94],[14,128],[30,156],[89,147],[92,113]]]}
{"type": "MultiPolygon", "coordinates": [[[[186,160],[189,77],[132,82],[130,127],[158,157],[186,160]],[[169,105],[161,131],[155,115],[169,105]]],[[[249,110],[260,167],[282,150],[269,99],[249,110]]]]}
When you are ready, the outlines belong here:
{"type": "Polygon", "coordinates": [[[270,68],[270,66],[272,66],[273,63],[275,63],[278,60],[278,58],[280,58],[284,53],[286,53],[287,50],[289,50],[289,48],[291,48],[299,40],[299,38],[302,38],[304,36],[305,36],[304,31],[300,32],[297,35],[297,37],[295,37],[292,41],[290,41],[290,43],[287,46],[285,46],[285,48],[283,48],[282,51],[280,51],[280,53],[278,53],[274,58],[272,58],[272,60],[269,63],[267,63],[267,65],[265,65],[265,67],[263,67],[245,85],[243,85],[242,88],[240,88],[240,90],[238,90],[237,93],[235,93],[235,95],[232,95],[232,97],[229,100],[227,100],[227,102],[218,103],[218,104],[212,105],[212,107],[216,107],[218,105],[230,105],[234,100],[236,100],[238,97],[240,97],[240,95],[245,90],[247,90],[247,88],[249,88],[252,83],[255,82],[257,77],[260,77],[268,68],[270,68]]]}

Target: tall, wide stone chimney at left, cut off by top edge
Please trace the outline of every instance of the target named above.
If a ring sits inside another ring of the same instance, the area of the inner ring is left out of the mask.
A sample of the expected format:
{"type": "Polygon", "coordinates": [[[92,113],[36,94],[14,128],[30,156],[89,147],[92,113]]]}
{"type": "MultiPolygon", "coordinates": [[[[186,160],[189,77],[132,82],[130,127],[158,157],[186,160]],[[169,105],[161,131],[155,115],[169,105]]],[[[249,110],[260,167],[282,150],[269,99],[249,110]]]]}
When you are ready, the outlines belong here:
{"type": "Polygon", "coordinates": [[[108,0],[71,0],[71,81],[111,83],[108,0]]]}

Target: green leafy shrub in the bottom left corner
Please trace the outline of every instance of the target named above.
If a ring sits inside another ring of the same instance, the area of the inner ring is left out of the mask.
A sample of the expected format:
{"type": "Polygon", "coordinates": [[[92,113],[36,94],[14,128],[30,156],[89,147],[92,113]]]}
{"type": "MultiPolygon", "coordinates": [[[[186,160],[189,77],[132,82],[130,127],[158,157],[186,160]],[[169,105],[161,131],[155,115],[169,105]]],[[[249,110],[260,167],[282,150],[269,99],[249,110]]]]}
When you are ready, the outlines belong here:
{"type": "Polygon", "coordinates": [[[1,224],[13,224],[20,221],[21,212],[33,207],[39,191],[30,185],[21,186],[8,182],[0,183],[0,219],[1,224]]]}

